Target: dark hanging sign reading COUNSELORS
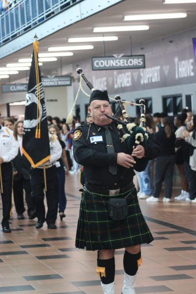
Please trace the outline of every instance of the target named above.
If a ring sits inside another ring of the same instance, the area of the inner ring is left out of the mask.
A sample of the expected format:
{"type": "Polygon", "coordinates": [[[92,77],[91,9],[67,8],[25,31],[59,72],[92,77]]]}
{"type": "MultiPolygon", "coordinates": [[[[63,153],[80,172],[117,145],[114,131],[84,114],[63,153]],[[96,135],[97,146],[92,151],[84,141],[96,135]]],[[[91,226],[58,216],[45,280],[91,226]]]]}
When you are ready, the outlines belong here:
{"type": "Polygon", "coordinates": [[[106,57],[92,57],[92,70],[128,70],[144,69],[145,55],[114,55],[106,57]]]}

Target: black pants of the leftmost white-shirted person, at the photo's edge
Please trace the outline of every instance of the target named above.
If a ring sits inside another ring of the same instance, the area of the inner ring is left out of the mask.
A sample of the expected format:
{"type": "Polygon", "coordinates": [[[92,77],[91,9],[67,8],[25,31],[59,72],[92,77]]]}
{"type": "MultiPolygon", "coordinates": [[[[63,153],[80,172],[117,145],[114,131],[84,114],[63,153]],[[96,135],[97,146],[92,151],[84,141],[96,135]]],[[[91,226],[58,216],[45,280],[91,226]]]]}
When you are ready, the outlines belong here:
{"type": "Polygon", "coordinates": [[[2,224],[2,227],[4,227],[5,225],[9,225],[9,218],[10,218],[10,212],[12,207],[13,172],[12,172],[11,162],[2,163],[0,167],[1,167],[1,175],[2,175],[2,183],[3,183],[3,193],[1,193],[3,219],[1,224],[2,224]]]}

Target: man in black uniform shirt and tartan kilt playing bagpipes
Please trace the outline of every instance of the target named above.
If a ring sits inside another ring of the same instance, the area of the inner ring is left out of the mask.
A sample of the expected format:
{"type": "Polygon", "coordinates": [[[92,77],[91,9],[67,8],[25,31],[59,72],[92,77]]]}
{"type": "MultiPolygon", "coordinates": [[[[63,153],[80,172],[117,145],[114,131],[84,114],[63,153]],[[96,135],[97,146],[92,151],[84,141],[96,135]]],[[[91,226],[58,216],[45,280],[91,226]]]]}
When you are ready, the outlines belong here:
{"type": "Polygon", "coordinates": [[[123,294],[135,294],[141,244],[153,237],[138,204],[133,157],[144,162],[160,149],[149,136],[147,147],[138,145],[128,154],[116,124],[106,117],[112,116],[107,91],[93,91],[90,113],[93,123],[78,127],[73,137],[74,158],[84,166],[85,178],[75,245],[98,250],[97,272],[104,294],[114,294],[115,249],[125,248],[123,294]]]}

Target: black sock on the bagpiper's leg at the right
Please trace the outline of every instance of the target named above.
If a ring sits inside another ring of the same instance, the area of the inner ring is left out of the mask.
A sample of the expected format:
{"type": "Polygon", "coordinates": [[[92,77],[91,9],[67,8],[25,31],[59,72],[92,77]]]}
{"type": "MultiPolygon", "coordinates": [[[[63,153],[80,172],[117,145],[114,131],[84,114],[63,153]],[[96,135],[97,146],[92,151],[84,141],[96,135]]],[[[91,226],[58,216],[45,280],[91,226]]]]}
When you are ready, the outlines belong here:
{"type": "Polygon", "coordinates": [[[138,260],[141,258],[141,251],[136,254],[124,251],[123,266],[128,275],[135,275],[138,271],[138,260]]]}

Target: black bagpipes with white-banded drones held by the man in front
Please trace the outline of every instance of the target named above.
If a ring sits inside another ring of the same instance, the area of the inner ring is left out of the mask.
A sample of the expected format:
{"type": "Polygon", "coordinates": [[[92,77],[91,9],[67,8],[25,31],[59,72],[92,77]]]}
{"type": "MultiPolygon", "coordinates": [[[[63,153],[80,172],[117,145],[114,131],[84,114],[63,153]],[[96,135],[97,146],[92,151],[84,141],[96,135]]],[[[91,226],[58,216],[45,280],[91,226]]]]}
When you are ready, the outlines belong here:
{"type": "MultiPolygon", "coordinates": [[[[82,90],[82,92],[84,94],[86,94],[81,87],[81,78],[83,78],[83,80],[86,82],[86,85],[88,86],[88,88],[93,92],[95,90],[95,88],[93,87],[91,82],[86,78],[82,69],[78,68],[76,70],[76,72],[78,74],[80,74],[79,90],[82,90]]],[[[78,92],[79,92],[79,90],[78,90],[78,92]]],[[[77,93],[77,95],[78,95],[78,93],[77,93]]],[[[90,96],[88,94],[86,94],[86,95],[90,96]]],[[[109,97],[109,98],[111,98],[111,97],[109,97]]],[[[123,114],[124,121],[122,122],[122,121],[116,119],[114,116],[109,116],[109,115],[106,115],[106,116],[116,123],[117,129],[119,130],[119,134],[121,136],[121,140],[125,141],[129,154],[132,153],[133,146],[136,147],[137,145],[140,144],[143,147],[146,147],[148,135],[147,135],[146,126],[145,126],[145,123],[146,123],[145,100],[141,99],[139,101],[139,104],[133,103],[135,105],[140,106],[140,112],[141,112],[140,126],[137,126],[135,123],[130,122],[129,116],[126,113],[126,110],[124,109],[124,106],[121,102],[121,97],[116,96],[115,99],[114,98],[111,98],[111,99],[118,102],[119,107],[120,107],[122,114],[123,114]]],[[[130,103],[130,102],[128,102],[128,103],[130,103]]],[[[134,158],[134,160],[136,161],[136,164],[134,165],[134,169],[138,172],[144,171],[147,166],[148,160],[146,158],[142,158],[142,159],[134,158]]]]}

